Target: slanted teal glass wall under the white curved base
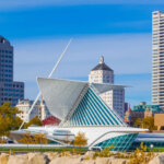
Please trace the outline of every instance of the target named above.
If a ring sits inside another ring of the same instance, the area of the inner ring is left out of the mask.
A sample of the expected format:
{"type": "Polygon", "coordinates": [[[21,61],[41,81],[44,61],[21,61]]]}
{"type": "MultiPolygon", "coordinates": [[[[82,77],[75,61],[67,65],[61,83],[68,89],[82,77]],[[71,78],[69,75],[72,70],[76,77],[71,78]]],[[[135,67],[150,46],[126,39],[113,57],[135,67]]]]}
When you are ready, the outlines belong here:
{"type": "Polygon", "coordinates": [[[113,151],[128,151],[131,148],[132,142],[137,138],[138,133],[127,133],[124,136],[118,136],[103,142],[95,144],[94,147],[101,147],[105,149],[107,147],[114,145],[113,151]]]}

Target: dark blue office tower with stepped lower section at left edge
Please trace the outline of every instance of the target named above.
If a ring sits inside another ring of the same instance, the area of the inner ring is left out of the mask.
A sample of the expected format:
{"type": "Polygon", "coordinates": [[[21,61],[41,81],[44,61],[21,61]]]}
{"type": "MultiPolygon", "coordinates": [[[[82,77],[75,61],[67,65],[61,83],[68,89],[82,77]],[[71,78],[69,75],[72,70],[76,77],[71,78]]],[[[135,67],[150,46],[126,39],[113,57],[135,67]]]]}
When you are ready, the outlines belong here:
{"type": "Polygon", "coordinates": [[[0,36],[0,105],[10,102],[16,105],[24,98],[24,83],[13,81],[13,47],[0,36]]]}

